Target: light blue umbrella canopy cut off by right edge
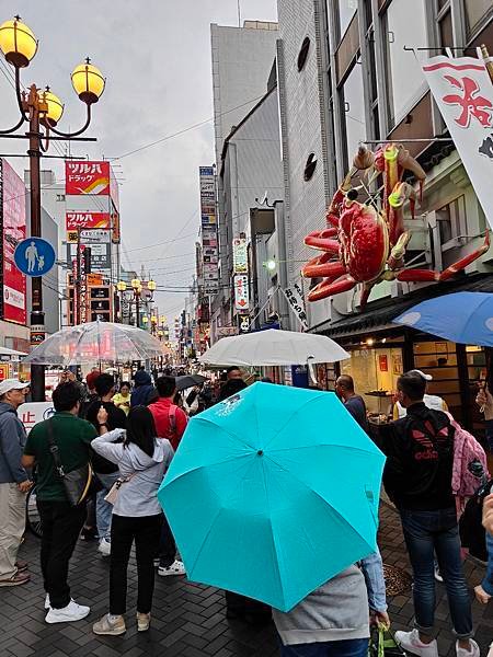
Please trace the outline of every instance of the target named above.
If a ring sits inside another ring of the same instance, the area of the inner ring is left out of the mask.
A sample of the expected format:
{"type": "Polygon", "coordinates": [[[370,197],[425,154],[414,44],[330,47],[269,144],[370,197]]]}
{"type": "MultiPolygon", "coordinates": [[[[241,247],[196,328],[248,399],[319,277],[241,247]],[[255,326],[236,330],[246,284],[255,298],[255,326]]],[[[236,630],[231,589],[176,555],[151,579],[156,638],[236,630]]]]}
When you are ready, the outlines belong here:
{"type": "Polygon", "coordinates": [[[493,347],[493,295],[444,295],[413,306],[393,322],[451,342],[493,347]]]}

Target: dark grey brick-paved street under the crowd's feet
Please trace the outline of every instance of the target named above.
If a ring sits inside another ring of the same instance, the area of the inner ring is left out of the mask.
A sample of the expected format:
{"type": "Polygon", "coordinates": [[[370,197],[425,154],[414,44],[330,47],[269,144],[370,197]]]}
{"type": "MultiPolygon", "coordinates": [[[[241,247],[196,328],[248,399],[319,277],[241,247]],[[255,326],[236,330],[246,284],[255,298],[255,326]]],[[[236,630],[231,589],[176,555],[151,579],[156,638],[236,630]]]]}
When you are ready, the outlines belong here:
{"type": "MultiPolygon", "coordinates": [[[[380,544],[387,564],[409,568],[399,519],[386,504],[381,508],[380,544]]],[[[138,634],[131,615],[127,614],[128,630],[124,637],[94,636],[91,624],[107,610],[108,570],[108,562],[96,553],[95,546],[95,543],[79,543],[70,574],[73,595],[80,602],[92,607],[89,620],[71,625],[46,625],[43,620],[44,598],[37,565],[37,539],[27,537],[22,557],[32,565],[32,581],[24,587],[0,591],[1,657],[270,657],[277,654],[273,627],[259,631],[240,622],[227,621],[221,592],[181,578],[158,578],[149,633],[138,634]]],[[[480,581],[482,569],[469,562],[466,568],[472,587],[480,581]]],[[[389,599],[394,630],[405,629],[411,622],[413,609],[410,593],[408,590],[389,599]]],[[[136,573],[133,568],[129,576],[130,609],[135,604],[135,596],[136,573]]],[[[438,586],[438,646],[440,656],[445,657],[455,652],[442,585],[438,586]]],[[[484,608],[474,602],[473,611],[477,638],[482,654],[485,654],[493,639],[493,603],[484,608]]]]}

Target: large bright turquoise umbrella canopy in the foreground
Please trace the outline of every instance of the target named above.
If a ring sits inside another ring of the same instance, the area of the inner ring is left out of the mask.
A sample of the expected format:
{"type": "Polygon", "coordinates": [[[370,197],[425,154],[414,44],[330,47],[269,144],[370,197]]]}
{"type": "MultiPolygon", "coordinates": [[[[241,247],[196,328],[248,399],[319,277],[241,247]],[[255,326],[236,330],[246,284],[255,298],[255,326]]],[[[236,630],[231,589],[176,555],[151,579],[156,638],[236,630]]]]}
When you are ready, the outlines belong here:
{"type": "Polygon", "coordinates": [[[287,611],[376,550],[383,462],[335,394],[255,383],[191,419],[158,497],[190,579],[287,611]]]}

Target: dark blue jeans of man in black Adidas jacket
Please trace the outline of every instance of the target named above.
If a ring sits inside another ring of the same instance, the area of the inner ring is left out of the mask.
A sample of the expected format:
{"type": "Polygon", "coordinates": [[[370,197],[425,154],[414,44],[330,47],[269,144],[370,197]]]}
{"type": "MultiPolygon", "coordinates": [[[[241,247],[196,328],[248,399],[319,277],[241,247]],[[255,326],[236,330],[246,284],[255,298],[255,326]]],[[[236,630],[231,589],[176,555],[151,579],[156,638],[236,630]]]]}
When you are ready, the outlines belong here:
{"type": "Polygon", "coordinates": [[[402,529],[414,575],[415,626],[434,636],[434,553],[447,589],[448,604],[458,638],[472,633],[471,601],[460,556],[459,527],[455,508],[434,511],[401,509],[402,529]]]}

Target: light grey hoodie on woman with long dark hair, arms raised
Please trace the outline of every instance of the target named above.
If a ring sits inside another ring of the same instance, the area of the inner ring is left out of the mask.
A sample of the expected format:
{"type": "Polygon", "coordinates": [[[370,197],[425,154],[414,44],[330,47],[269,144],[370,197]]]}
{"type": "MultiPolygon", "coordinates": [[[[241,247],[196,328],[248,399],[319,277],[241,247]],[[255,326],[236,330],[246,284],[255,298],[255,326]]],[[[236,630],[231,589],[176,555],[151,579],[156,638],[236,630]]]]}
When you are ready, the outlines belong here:
{"type": "Polygon", "coordinates": [[[131,442],[127,447],[115,443],[124,435],[123,429],[115,429],[91,442],[96,453],[118,465],[122,477],[133,475],[130,481],[122,484],[113,512],[133,518],[162,514],[157,493],[171,463],[173,448],[169,440],[156,438],[151,458],[131,442]]]}

